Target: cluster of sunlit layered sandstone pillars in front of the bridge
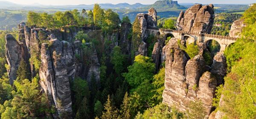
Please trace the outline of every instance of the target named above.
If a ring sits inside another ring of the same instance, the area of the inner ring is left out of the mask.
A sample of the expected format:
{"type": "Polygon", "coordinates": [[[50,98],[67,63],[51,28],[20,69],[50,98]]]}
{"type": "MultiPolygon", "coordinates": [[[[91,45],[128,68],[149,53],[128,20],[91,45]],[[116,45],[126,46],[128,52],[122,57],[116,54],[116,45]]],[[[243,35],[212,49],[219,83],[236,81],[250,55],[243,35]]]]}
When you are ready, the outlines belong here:
{"type": "Polygon", "coordinates": [[[212,98],[215,97],[217,81],[222,84],[227,64],[222,53],[218,53],[212,64],[212,69],[206,66],[203,55],[190,59],[182,51],[177,39],[172,38],[163,47],[165,58],[165,89],[163,102],[176,105],[180,110],[187,110],[190,102],[201,100],[207,114],[212,112],[212,98]],[[218,70],[216,67],[219,67],[218,70]],[[217,77],[216,76],[221,76],[217,77]],[[222,79],[222,80],[221,80],[222,79]]]}

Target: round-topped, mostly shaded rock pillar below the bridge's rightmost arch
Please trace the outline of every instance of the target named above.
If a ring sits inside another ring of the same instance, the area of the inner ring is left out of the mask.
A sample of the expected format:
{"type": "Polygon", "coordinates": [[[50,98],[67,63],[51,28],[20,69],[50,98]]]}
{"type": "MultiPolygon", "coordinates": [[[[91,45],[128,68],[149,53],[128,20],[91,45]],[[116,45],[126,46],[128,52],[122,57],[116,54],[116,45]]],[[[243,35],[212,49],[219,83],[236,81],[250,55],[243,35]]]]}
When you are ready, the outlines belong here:
{"type": "Polygon", "coordinates": [[[214,58],[211,67],[211,73],[217,78],[217,84],[224,83],[224,76],[227,73],[227,60],[223,53],[218,52],[214,58]]]}

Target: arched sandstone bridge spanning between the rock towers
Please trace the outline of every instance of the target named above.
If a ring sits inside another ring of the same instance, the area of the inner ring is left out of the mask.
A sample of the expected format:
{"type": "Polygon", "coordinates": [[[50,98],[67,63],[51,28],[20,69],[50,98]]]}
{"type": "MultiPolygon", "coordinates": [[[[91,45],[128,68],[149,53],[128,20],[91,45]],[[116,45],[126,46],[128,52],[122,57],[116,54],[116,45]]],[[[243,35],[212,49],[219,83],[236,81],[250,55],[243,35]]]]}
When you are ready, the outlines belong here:
{"type": "Polygon", "coordinates": [[[167,37],[172,36],[180,40],[186,41],[187,44],[200,43],[200,42],[207,44],[208,41],[215,40],[221,46],[220,52],[223,52],[227,46],[236,42],[236,38],[232,38],[229,36],[211,35],[211,34],[196,33],[196,32],[185,32],[185,31],[177,31],[177,30],[171,30],[171,29],[159,29],[159,32],[157,34],[162,35],[164,40],[166,40],[167,37]]]}

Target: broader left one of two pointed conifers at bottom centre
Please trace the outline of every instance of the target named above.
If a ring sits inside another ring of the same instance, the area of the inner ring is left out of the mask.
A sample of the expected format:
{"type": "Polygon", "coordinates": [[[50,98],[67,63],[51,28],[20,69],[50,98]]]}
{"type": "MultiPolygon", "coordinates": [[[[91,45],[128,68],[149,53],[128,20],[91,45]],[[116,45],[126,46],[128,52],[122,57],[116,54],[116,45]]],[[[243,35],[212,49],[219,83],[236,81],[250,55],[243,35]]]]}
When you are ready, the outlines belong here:
{"type": "Polygon", "coordinates": [[[119,117],[118,110],[113,106],[109,95],[104,107],[105,111],[102,113],[101,119],[117,119],[119,117]]]}

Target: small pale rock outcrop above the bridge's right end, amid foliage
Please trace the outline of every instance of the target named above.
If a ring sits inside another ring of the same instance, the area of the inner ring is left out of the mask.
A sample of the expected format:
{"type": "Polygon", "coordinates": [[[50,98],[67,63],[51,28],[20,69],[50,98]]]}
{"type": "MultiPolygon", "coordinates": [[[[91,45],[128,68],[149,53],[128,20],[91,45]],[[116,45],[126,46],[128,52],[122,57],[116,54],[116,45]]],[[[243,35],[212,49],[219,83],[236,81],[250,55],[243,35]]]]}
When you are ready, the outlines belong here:
{"type": "Polygon", "coordinates": [[[234,21],[230,29],[230,37],[239,38],[243,27],[245,27],[243,19],[234,21]]]}

